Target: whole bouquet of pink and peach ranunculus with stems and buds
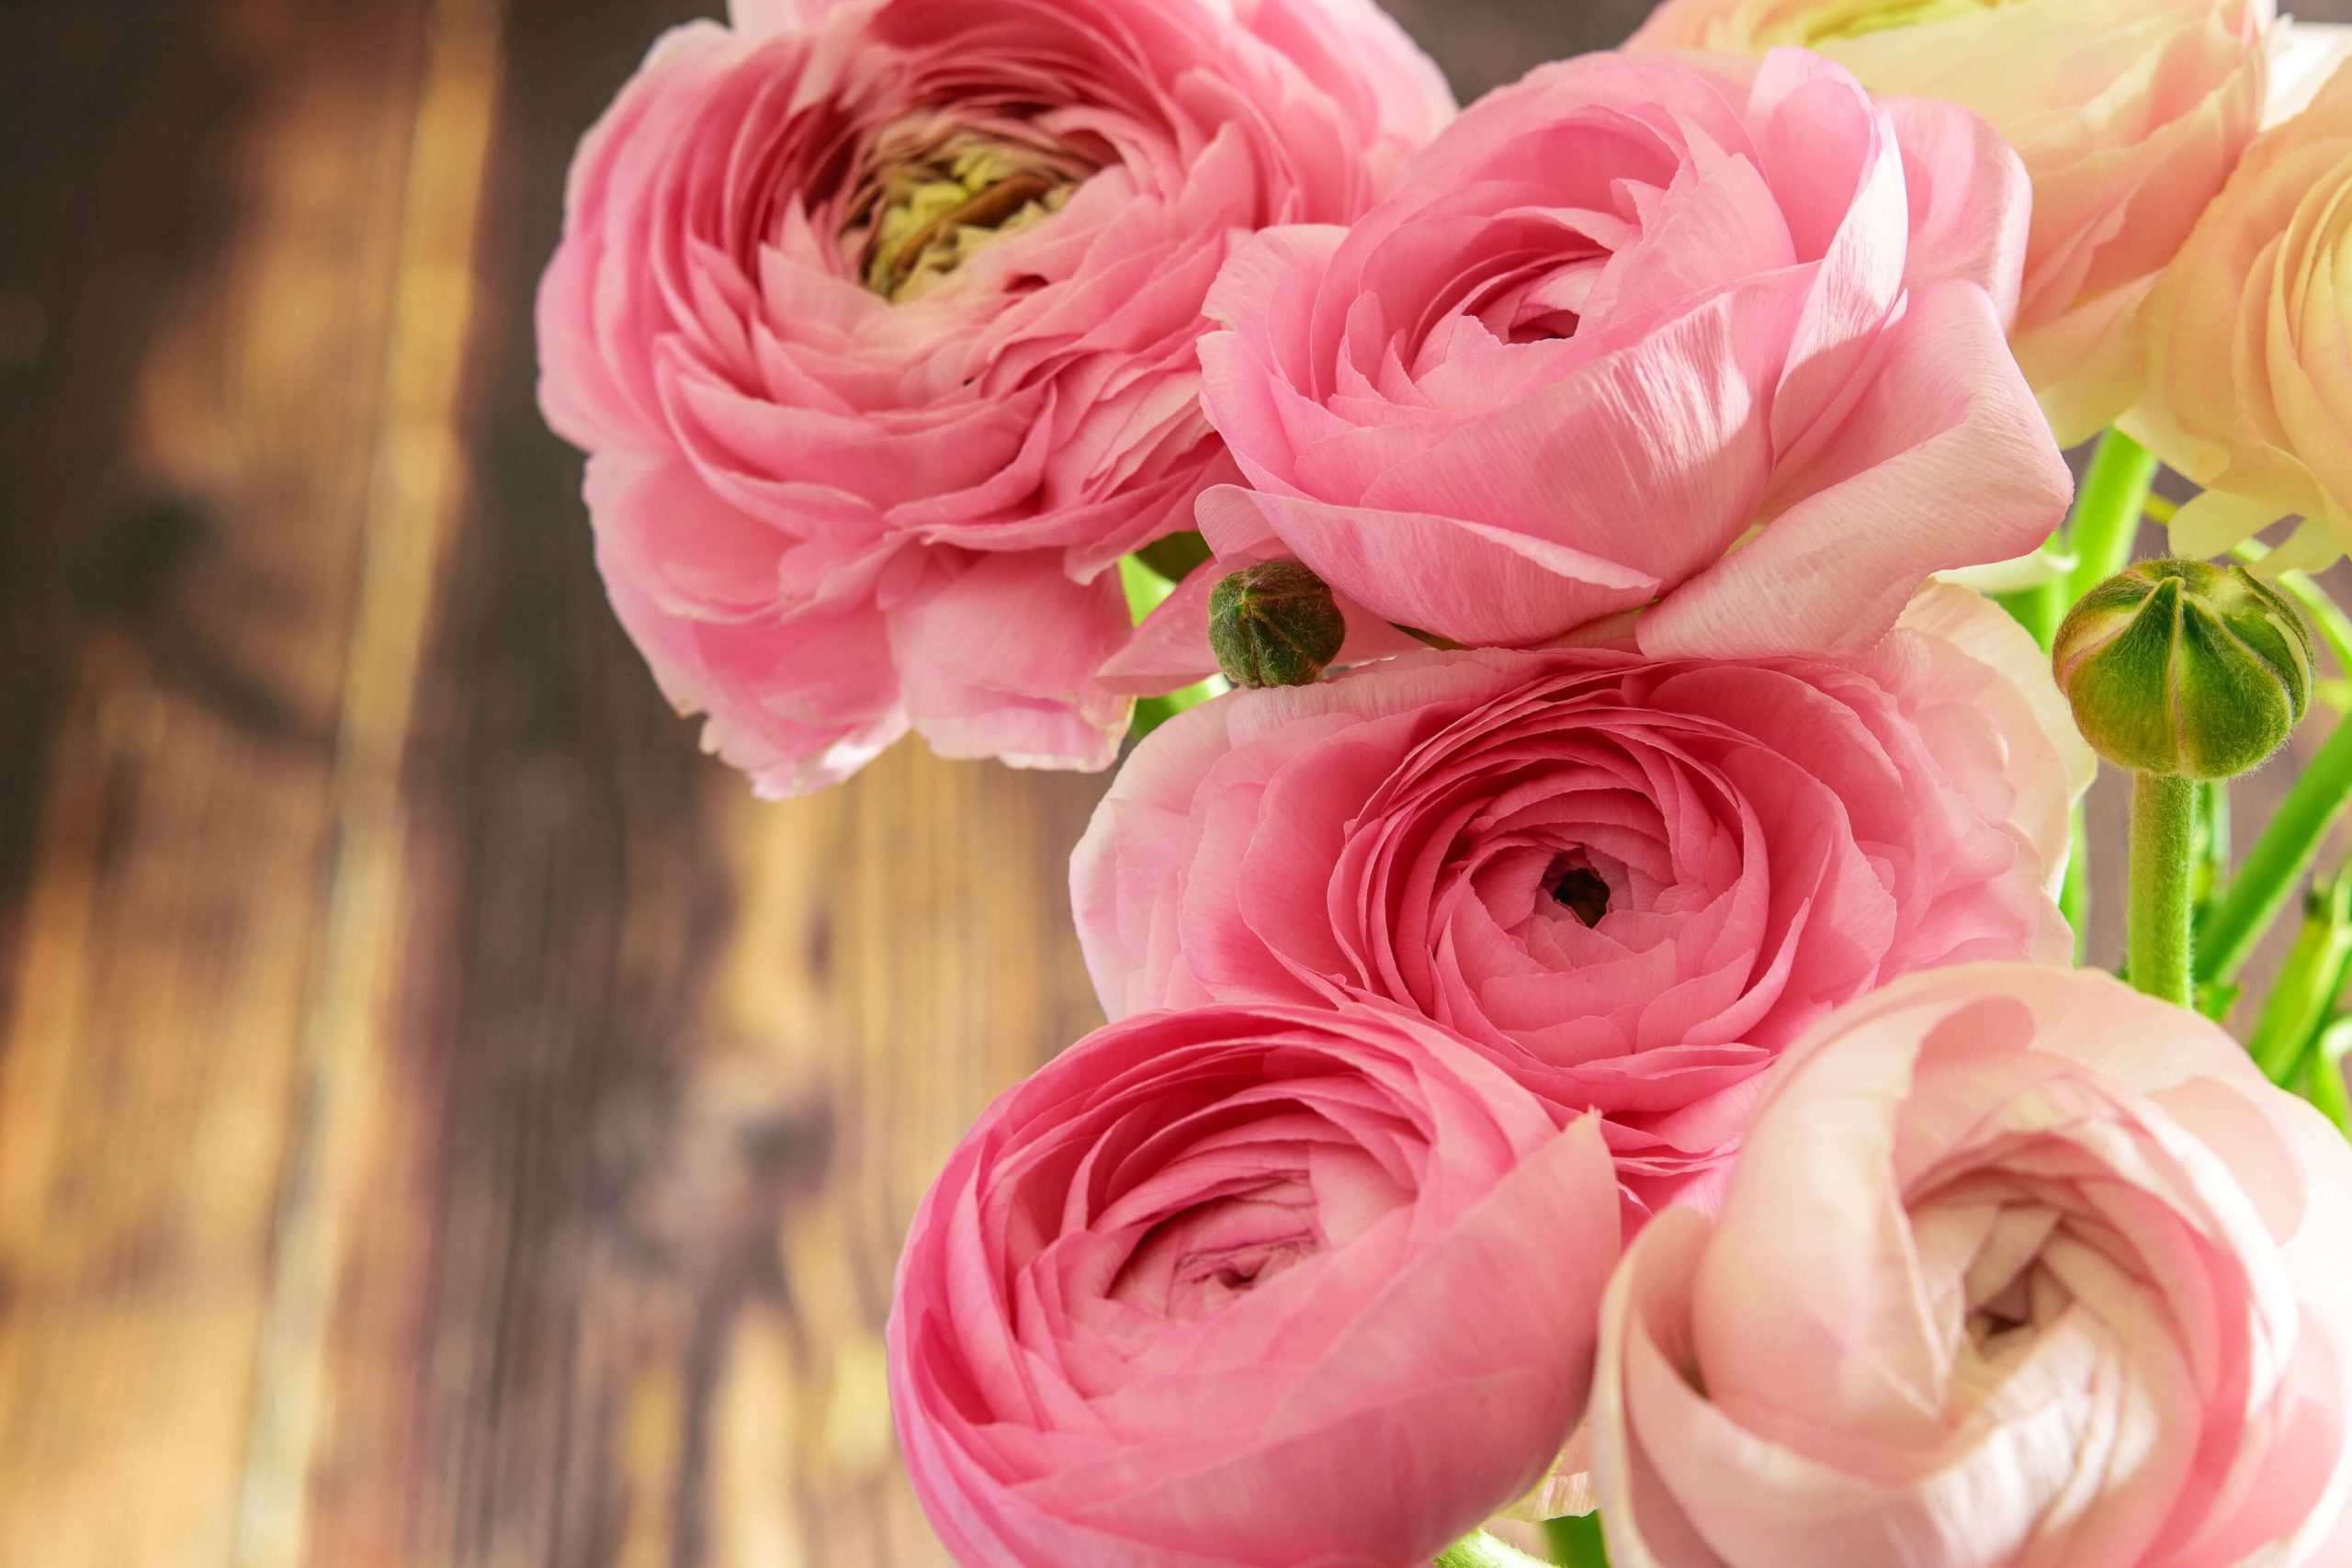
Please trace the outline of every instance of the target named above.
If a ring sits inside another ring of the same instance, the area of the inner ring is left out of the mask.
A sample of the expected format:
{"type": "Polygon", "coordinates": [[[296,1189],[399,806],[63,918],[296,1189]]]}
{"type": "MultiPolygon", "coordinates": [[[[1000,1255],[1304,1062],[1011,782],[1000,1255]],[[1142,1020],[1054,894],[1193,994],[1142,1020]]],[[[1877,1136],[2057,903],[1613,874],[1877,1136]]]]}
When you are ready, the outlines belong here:
{"type": "Polygon", "coordinates": [[[771,795],[1136,738],[1112,1023],[898,1269],[957,1561],[2352,1568],[2347,56],[1668,0],[1456,113],[1371,0],[654,47],[539,329],[663,691],[771,795]]]}

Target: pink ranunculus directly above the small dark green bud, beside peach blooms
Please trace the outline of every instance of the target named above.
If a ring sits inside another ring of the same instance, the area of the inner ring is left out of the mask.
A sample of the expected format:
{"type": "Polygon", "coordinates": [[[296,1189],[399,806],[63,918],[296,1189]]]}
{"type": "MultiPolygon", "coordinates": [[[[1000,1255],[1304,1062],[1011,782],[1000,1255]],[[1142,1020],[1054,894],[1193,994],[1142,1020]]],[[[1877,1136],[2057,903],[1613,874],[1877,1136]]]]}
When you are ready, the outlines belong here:
{"type": "Polygon", "coordinates": [[[2025,219],[1983,122],[1795,49],[1545,66],[1225,268],[1204,400],[1256,491],[1202,531],[1472,646],[1858,651],[2065,512],[2004,341],[2025,219]]]}

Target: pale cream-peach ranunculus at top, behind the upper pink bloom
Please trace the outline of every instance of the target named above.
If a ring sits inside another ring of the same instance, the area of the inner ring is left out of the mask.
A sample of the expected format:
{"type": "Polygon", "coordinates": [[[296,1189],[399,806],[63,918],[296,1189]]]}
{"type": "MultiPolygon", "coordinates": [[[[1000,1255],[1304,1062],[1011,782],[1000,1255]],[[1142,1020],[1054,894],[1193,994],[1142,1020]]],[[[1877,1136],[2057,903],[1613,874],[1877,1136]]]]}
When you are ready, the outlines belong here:
{"type": "Polygon", "coordinates": [[[2263,120],[2272,0],[1668,0],[1637,49],[1818,49],[1962,103],[2034,181],[2016,350],[2067,444],[2140,386],[2133,310],[2263,120]]]}

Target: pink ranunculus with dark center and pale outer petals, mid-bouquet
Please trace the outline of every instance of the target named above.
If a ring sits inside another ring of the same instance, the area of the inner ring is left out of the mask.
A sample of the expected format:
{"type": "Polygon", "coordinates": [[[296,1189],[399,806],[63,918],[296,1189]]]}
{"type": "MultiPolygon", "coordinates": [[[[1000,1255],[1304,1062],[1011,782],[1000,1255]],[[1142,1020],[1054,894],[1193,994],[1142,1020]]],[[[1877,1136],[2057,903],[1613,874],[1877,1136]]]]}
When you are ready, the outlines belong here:
{"type": "Polygon", "coordinates": [[[1112,1018],[1414,1009],[1606,1112],[1653,1201],[1832,1006],[2067,961],[2091,766],[2032,637],[1933,585],[1839,661],[1421,651],[1218,698],[1127,759],[1070,884],[1112,1018]]]}

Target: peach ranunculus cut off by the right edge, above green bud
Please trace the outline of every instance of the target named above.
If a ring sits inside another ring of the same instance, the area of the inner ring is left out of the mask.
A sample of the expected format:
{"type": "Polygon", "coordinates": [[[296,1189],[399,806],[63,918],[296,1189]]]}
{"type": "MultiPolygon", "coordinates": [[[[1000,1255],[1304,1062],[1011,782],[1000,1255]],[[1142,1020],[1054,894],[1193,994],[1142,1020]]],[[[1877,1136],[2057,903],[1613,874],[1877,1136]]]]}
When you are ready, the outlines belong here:
{"type": "Polygon", "coordinates": [[[2216,555],[2303,517],[2281,564],[2352,545],[2352,66],[2263,134],[2143,313],[2124,428],[2204,494],[2173,548],[2216,555]]]}

